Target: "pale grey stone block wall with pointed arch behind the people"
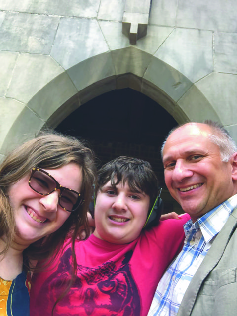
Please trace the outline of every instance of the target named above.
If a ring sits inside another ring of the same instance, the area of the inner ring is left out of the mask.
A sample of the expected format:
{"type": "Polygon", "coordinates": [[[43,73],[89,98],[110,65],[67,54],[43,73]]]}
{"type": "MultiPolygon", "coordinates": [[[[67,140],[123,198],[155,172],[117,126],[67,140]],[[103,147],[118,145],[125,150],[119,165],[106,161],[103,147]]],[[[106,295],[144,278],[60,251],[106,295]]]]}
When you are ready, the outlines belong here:
{"type": "Polygon", "coordinates": [[[94,96],[126,87],[179,123],[220,121],[237,140],[237,1],[152,0],[136,45],[122,33],[125,6],[0,0],[1,155],[94,96]]]}

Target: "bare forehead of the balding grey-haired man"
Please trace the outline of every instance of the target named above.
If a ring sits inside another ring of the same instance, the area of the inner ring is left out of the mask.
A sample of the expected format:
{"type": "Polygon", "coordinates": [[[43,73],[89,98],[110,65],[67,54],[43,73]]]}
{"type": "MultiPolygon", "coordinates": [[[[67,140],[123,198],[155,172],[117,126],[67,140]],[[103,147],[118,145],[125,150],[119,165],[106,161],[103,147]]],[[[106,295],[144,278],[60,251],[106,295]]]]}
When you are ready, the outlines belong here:
{"type": "Polygon", "coordinates": [[[219,151],[219,147],[209,139],[210,134],[210,127],[201,123],[186,124],[175,130],[165,143],[163,161],[173,158],[173,155],[182,156],[196,151],[219,151]]]}

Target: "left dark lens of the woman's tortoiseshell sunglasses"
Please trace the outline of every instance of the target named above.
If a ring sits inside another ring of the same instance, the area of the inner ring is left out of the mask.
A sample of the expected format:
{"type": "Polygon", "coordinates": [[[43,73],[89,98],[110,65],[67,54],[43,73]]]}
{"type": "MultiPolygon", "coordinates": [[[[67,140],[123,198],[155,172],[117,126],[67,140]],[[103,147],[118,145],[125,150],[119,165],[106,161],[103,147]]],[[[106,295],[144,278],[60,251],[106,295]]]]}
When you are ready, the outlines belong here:
{"type": "Polygon", "coordinates": [[[34,172],[29,185],[34,191],[42,195],[52,193],[57,186],[52,178],[50,178],[48,175],[44,174],[40,170],[34,172]]]}

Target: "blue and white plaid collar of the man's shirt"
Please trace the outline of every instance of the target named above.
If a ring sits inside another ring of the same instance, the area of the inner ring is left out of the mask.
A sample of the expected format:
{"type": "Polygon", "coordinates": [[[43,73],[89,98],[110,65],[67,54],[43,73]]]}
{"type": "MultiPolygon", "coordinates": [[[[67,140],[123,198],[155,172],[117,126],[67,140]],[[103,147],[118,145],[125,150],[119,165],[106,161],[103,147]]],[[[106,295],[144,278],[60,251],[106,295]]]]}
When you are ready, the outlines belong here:
{"type": "Polygon", "coordinates": [[[199,228],[205,239],[205,242],[210,242],[210,240],[220,232],[236,207],[237,194],[233,195],[225,202],[204,214],[194,224],[192,223],[192,220],[189,220],[185,225],[186,227],[184,227],[185,233],[187,230],[197,230],[199,228]]]}

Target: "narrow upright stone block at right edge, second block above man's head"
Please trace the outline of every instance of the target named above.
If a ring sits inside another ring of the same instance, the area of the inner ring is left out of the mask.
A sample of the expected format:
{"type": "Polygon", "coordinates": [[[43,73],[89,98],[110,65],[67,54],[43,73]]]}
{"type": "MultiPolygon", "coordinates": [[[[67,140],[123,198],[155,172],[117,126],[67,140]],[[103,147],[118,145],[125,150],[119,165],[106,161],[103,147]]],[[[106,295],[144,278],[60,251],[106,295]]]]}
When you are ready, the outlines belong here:
{"type": "Polygon", "coordinates": [[[214,70],[237,74],[237,34],[214,33],[214,70]]]}

